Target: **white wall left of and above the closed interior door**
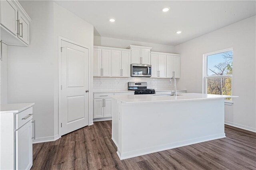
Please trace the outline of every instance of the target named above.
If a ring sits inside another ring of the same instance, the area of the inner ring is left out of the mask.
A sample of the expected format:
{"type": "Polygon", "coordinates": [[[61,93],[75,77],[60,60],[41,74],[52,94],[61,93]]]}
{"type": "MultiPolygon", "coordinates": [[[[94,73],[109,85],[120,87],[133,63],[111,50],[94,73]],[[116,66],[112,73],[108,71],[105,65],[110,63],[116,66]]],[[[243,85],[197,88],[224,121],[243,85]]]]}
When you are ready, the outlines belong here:
{"type": "MultiPolygon", "coordinates": [[[[34,102],[36,141],[53,140],[58,137],[58,36],[92,51],[93,26],[52,1],[20,4],[32,19],[30,47],[8,46],[8,102],[34,102]]],[[[92,109],[90,114],[92,121],[92,109]]]]}

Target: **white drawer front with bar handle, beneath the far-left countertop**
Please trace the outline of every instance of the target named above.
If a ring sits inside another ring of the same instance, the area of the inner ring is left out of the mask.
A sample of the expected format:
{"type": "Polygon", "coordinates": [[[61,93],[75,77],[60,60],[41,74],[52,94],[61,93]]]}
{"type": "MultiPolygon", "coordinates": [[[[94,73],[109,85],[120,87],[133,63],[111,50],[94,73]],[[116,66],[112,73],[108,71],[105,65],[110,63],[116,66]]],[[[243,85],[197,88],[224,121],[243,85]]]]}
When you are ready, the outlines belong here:
{"type": "Polygon", "coordinates": [[[25,123],[33,118],[33,107],[30,107],[15,115],[15,128],[22,127],[25,123]]]}

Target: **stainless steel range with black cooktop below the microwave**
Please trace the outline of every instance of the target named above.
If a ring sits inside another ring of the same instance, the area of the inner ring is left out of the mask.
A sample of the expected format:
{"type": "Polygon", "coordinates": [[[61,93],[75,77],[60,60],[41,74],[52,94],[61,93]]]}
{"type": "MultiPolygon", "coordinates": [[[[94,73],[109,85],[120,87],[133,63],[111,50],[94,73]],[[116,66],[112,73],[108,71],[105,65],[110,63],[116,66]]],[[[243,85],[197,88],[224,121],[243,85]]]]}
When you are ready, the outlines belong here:
{"type": "Polygon", "coordinates": [[[147,89],[147,82],[128,82],[128,90],[133,90],[134,95],[155,94],[155,89],[147,89]]]}

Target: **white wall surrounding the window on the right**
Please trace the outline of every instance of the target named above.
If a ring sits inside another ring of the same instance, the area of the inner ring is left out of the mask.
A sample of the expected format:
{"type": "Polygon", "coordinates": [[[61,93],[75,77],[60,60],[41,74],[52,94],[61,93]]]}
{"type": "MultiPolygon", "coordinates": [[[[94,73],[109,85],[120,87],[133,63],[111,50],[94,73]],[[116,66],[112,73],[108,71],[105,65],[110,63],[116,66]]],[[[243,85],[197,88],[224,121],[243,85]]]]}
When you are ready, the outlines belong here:
{"type": "Polygon", "coordinates": [[[256,132],[256,16],[175,46],[181,54],[179,89],[202,93],[203,54],[233,47],[232,106],[225,105],[227,124],[256,132]]]}

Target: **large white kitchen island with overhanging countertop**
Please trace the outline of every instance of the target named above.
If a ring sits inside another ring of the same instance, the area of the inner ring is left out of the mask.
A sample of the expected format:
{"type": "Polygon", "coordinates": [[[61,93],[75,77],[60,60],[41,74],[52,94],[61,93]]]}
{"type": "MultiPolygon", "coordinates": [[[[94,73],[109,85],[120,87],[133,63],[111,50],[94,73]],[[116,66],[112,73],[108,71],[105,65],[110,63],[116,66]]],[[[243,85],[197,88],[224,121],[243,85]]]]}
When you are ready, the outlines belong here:
{"type": "Polygon", "coordinates": [[[225,95],[112,96],[112,140],[121,160],[224,138],[225,95]]]}

